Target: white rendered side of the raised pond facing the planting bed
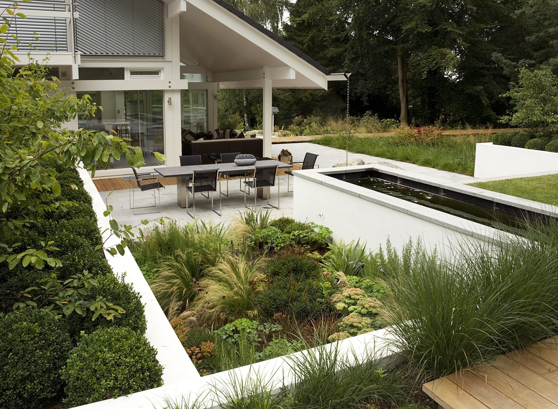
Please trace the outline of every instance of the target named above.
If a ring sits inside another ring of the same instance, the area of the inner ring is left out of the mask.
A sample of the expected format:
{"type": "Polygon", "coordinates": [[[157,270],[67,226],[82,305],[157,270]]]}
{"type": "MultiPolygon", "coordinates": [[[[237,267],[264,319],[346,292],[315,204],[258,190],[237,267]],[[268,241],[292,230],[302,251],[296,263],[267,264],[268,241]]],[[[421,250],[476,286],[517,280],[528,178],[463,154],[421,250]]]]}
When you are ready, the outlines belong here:
{"type": "Polygon", "coordinates": [[[335,242],[360,239],[370,251],[376,251],[380,245],[385,248],[389,237],[391,244],[401,250],[410,238],[414,241],[420,237],[427,249],[436,247],[443,252],[452,242],[473,240],[484,230],[493,230],[464,219],[455,221],[455,216],[344,181],[332,181],[323,174],[312,173],[312,178],[323,180],[320,183],[295,173],[294,218],[329,227],[335,242]],[[347,185],[352,194],[344,191],[347,185]],[[364,195],[377,197],[383,203],[364,199],[364,195]],[[416,216],[419,212],[422,218],[416,216]],[[452,222],[459,223],[456,230],[448,227],[452,222]]]}

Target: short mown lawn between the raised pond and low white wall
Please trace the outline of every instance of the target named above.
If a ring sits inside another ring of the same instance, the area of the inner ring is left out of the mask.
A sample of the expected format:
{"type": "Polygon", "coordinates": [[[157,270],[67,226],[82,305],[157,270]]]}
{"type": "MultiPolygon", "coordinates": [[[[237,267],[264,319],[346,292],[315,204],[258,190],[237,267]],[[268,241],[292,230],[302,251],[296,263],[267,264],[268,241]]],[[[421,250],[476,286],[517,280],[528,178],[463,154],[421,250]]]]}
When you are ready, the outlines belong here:
{"type": "Polygon", "coordinates": [[[477,182],[471,186],[558,206],[558,174],[477,182]]]}

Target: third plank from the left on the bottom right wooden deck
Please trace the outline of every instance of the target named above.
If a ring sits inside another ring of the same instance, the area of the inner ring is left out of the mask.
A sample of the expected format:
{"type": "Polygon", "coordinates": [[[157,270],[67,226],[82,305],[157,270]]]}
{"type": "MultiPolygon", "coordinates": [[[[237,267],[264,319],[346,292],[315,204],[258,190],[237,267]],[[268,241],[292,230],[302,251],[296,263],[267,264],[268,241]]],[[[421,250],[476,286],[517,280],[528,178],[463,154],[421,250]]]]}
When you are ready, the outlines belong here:
{"type": "MultiPolygon", "coordinates": [[[[505,368],[503,369],[505,371],[505,368]]],[[[534,392],[517,379],[508,376],[499,367],[479,365],[470,372],[527,409],[558,409],[557,405],[534,392]]]]}

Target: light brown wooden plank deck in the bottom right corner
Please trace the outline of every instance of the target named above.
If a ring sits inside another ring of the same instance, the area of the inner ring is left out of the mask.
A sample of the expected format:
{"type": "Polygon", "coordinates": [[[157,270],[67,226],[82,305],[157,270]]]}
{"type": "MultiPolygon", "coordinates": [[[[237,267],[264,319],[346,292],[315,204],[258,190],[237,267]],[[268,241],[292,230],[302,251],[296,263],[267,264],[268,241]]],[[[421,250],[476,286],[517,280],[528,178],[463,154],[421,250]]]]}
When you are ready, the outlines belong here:
{"type": "Polygon", "coordinates": [[[422,385],[444,409],[558,409],[558,337],[422,385]]]}

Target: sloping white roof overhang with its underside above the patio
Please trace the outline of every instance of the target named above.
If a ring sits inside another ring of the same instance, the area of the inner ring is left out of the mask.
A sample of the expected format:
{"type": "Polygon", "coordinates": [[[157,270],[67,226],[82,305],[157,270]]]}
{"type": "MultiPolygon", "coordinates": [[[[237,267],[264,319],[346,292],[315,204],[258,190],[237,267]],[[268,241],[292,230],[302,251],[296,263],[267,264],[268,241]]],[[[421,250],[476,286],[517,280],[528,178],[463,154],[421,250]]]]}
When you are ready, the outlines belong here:
{"type": "Polygon", "coordinates": [[[220,88],[262,88],[263,67],[274,88],[328,89],[330,80],[324,67],[221,0],[187,1],[180,54],[181,71],[201,66],[220,88]]]}

